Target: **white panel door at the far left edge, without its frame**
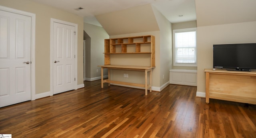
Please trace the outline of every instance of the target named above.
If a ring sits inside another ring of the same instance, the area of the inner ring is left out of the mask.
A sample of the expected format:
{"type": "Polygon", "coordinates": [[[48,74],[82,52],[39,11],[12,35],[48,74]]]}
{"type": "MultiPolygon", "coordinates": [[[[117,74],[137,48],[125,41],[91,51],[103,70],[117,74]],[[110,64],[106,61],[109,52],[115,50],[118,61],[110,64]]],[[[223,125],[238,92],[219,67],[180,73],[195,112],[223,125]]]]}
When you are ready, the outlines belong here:
{"type": "Polygon", "coordinates": [[[0,10],[0,107],[31,100],[31,17],[0,10]]]}

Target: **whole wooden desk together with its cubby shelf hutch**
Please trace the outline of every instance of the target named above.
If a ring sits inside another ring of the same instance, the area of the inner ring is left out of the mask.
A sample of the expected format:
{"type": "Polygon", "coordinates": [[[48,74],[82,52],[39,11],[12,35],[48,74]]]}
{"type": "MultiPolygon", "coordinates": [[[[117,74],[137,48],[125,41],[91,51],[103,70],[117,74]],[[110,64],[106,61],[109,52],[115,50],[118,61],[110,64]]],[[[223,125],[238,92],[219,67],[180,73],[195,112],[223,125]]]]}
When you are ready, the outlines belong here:
{"type": "Polygon", "coordinates": [[[145,36],[135,36],[135,37],[122,37],[122,38],[112,38],[104,40],[104,65],[99,65],[101,67],[101,87],[103,88],[103,83],[114,83],[121,85],[129,85],[136,87],[144,87],[145,95],[148,95],[148,89],[152,91],[152,69],[155,65],[155,37],[153,35],[145,36]],[[142,50],[142,46],[146,46],[148,50],[142,50]],[[132,51],[128,47],[132,47],[132,51]],[[118,51],[119,49],[120,51],[118,51]],[[110,55],[111,54],[148,54],[147,57],[150,58],[150,66],[127,66],[127,65],[111,65],[110,55]],[[108,69],[108,79],[103,80],[103,69],[108,69]],[[110,69],[119,70],[132,70],[132,71],[144,71],[145,72],[145,83],[127,83],[121,81],[110,80],[110,69]],[[148,84],[148,72],[149,84],[148,84]]]}

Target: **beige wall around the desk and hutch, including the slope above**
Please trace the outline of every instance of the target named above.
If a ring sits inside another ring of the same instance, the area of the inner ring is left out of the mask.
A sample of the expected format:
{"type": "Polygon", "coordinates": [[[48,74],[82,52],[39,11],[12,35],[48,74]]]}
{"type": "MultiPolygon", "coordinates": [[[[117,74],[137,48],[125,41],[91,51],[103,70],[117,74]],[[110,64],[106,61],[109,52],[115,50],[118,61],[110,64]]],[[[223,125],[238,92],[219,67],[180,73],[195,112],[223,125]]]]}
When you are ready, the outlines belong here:
{"type": "MultiPolygon", "coordinates": [[[[110,38],[130,37],[140,35],[155,36],[155,62],[156,68],[152,71],[152,86],[160,88],[169,81],[169,70],[172,57],[172,28],[170,22],[150,4],[137,6],[96,16],[103,28],[108,32],[110,38]],[[111,20],[110,20],[111,19],[111,20]],[[163,78],[163,76],[165,76],[163,78]]],[[[150,62],[136,60],[143,59],[144,55],[111,55],[112,65],[144,65],[150,62]],[[132,63],[131,63],[132,60],[132,63]]],[[[150,59],[150,58],[148,58],[150,59]]],[[[130,83],[144,83],[144,73],[138,71],[112,70],[111,79],[130,83]],[[123,74],[129,75],[124,78],[123,74]]]]}

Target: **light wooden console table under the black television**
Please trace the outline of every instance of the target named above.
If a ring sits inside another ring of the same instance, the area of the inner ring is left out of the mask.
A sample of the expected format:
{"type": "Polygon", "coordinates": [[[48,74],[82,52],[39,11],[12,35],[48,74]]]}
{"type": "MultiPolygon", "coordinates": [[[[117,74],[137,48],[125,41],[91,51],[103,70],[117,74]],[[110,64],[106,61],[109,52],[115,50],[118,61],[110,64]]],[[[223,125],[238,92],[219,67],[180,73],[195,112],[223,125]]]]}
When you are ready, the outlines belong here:
{"type": "Polygon", "coordinates": [[[206,103],[209,98],[256,104],[256,71],[205,69],[206,103]]]}

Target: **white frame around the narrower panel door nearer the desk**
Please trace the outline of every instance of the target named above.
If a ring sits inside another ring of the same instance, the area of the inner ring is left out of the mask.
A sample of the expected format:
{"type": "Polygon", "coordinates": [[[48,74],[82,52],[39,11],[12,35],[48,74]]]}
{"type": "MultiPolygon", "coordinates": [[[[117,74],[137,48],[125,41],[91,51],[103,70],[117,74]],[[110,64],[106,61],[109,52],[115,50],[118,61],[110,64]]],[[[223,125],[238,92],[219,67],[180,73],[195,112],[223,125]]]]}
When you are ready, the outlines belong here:
{"type": "Polygon", "coordinates": [[[66,21],[62,21],[62,20],[58,20],[58,19],[54,19],[51,18],[51,32],[50,32],[50,96],[53,95],[53,23],[57,22],[60,24],[66,24],[66,25],[70,25],[70,26],[74,26],[75,27],[75,86],[74,89],[77,89],[77,34],[78,34],[78,25],[74,24],[74,23],[70,23],[70,22],[66,22],[66,21]]]}

